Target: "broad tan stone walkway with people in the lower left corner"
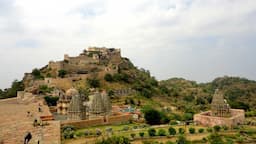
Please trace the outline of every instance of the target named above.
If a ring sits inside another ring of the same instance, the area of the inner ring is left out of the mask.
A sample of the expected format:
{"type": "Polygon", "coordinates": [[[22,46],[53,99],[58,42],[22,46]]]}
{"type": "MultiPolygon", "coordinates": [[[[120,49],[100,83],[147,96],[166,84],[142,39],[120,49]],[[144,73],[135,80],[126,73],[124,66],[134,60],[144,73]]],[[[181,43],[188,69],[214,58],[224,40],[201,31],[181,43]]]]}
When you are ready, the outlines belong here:
{"type": "Polygon", "coordinates": [[[0,100],[0,144],[23,144],[24,136],[31,132],[29,144],[60,144],[60,122],[48,121],[46,126],[33,126],[34,119],[51,115],[48,106],[38,98],[28,104],[19,104],[16,98],[0,100]],[[42,112],[38,112],[39,103],[42,112]],[[30,116],[28,116],[30,111],[30,116]]]}

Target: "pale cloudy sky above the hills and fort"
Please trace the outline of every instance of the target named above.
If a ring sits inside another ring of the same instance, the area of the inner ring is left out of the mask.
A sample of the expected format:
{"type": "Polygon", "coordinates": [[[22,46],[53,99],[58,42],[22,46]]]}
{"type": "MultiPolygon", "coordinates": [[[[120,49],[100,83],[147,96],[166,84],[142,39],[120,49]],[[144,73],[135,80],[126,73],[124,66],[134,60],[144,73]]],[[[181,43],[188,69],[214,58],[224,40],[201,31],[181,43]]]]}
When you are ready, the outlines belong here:
{"type": "Polygon", "coordinates": [[[158,80],[256,80],[256,1],[0,0],[0,88],[89,46],[158,80]]]}

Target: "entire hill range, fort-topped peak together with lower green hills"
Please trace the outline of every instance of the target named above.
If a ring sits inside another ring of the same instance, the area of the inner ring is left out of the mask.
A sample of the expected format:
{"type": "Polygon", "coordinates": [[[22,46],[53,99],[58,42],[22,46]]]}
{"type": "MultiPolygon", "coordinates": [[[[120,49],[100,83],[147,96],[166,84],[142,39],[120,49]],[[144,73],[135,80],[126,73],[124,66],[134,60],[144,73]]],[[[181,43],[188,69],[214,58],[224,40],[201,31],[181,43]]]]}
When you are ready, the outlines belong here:
{"type": "Polygon", "coordinates": [[[80,55],[64,55],[42,68],[25,73],[21,81],[0,90],[0,98],[15,97],[17,91],[57,96],[70,88],[82,92],[107,91],[115,104],[152,105],[173,112],[196,113],[209,109],[215,89],[220,89],[232,108],[256,109],[256,82],[239,77],[220,77],[209,83],[183,78],[157,81],[148,70],[137,68],[120,49],[89,47],[80,55]]]}

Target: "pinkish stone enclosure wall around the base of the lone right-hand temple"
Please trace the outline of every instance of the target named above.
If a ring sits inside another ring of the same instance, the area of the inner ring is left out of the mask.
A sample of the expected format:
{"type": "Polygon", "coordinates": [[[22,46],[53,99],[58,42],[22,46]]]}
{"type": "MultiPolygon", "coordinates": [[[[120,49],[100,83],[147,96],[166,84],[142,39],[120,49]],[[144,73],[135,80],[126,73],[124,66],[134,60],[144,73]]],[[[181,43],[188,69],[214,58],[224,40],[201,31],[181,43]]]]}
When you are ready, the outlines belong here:
{"type": "Polygon", "coordinates": [[[194,121],[204,126],[226,125],[233,127],[244,123],[244,110],[230,109],[231,117],[214,117],[211,116],[211,111],[206,111],[194,115],[194,121]]]}

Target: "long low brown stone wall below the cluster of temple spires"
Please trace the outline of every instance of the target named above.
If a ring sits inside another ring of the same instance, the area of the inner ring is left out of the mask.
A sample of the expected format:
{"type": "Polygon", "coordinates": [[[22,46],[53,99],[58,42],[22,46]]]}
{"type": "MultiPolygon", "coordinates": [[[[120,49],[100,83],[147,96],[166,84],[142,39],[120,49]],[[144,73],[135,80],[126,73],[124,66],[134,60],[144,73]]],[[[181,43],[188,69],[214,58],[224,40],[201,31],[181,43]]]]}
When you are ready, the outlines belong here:
{"type": "Polygon", "coordinates": [[[61,127],[66,125],[72,125],[76,128],[86,128],[90,126],[125,123],[125,122],[129,122],[130,119],[132,119],[131,114],[123,114],[123,115],[117,115],[117,116],[106,116],[106,118],[99,117],[92,120],[62,121],[61,127]]]}

